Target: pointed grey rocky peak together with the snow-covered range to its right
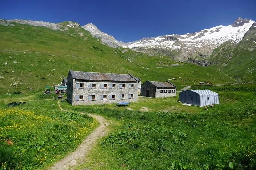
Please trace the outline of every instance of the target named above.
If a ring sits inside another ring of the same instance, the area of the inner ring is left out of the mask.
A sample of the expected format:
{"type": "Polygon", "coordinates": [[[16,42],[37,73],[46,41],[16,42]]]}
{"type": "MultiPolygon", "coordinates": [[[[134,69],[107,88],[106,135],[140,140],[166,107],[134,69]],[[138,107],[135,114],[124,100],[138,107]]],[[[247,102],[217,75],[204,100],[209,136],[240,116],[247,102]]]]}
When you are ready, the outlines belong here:
{"type": "Polygon", "coordinates": [[[142,38],[141,40],[124,43],[117,41],[113,36],[100,31],[95,25],[87,24],[82,26],[91,32],[95,37],[100,37],[101,41],[111,47],[126,47],[140,52],[158,52],[166,55],[172,54],[172,51],[179,51],[179,54],[173,56],[173,59],[187,61],[189,57],[196,52],[200,56],[208,57],[213,50],[221,44],[229,41],[228,44],[236,45],[242,40],[244,34],[249,30],[254,21],[238,17],[236,21],[228,26],[215,26],[210,29],[204,29],[196,33],[187,33],[184,35],[172,34],[158,37],[142,38]]]}

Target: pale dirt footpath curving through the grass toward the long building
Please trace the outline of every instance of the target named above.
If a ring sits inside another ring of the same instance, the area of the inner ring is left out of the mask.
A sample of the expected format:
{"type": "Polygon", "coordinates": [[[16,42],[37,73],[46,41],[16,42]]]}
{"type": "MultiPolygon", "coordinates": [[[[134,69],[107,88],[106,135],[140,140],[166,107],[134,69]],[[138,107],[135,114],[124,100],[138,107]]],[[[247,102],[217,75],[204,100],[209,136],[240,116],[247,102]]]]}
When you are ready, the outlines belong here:
{"type": "MultiPolygon", "coordinates": [[[[60,101],[58,101],[58,105],[60,107],[60,101]]],[[[62,111],[64,110],[60,107],[62,111]]],[[[85,114],[80,112],[81,114],[85,114]]],[[[93,145],[96,144],[96,140],[105,136],[108,132],[108,121],[99,115],[87,114],[100,122],[100,126],[96,128],[89,136],[87,136],[84,141],[80,144],[80,146],[74,151],[68,154],[65,158],[56,162],[51,170],[62,170],[62,169],[73,169],[75,166],[81,165],[84,161],[86,154],[93,148],[93,145]]]]}

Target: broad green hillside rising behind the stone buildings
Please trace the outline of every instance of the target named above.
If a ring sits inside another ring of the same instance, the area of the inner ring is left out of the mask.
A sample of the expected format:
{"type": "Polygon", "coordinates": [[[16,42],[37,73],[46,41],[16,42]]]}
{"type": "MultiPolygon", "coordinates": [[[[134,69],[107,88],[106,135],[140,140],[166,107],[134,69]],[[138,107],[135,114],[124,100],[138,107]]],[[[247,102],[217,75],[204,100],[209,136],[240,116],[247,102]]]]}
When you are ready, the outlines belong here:
{"type": "MultiPolygon", "coordinates": [[[[141,78],[142,82],[166,81],[178,77],[195,79],[198,82],[234,81],[215,68],[189,63],[170,67],[170,64],[178,62],[167,56],[151,56],[132,50],[124,52],[121,48],[105,46],[83,28],[59,31],[42,26],[12,24],[15,26],[0,25],[1,94],[13,91],[29,92],[60,84],[70,69],[131,73],[141,78]]],[[[183,86],[198,82],[176,81],[175,84],[183,86]]]]}

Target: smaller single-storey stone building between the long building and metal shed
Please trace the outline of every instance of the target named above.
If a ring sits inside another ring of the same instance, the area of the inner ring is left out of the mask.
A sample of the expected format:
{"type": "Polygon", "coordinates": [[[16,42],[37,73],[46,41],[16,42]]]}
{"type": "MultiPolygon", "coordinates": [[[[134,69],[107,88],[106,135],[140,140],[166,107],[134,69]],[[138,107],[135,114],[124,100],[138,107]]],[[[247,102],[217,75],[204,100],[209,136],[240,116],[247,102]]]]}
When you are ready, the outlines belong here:
{"type": "Polygon", "coordinates": [[[176,96],[176,86],[171,82],[146,81],[141,85],[141,96],[147,97],[172,97],[176,96]]]}

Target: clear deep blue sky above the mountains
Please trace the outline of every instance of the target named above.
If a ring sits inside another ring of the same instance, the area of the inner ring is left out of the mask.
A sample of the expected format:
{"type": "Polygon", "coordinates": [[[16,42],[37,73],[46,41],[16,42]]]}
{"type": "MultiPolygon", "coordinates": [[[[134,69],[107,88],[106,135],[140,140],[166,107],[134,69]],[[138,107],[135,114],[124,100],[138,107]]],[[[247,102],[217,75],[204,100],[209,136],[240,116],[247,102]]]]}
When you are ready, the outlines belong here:
{"type": "Polygon", "coordinates": [[[1,3],[0,18],[93,23],[117,40],[131,42],[227,26],[237,17],[255,21],[255,6],[256,0],[8,0],[1,3]]]}

